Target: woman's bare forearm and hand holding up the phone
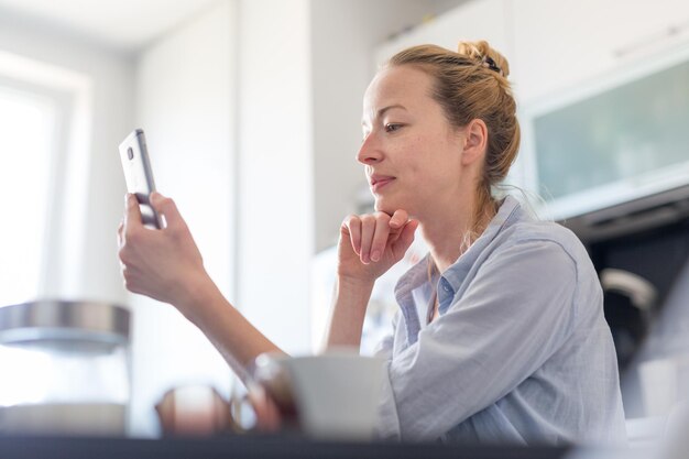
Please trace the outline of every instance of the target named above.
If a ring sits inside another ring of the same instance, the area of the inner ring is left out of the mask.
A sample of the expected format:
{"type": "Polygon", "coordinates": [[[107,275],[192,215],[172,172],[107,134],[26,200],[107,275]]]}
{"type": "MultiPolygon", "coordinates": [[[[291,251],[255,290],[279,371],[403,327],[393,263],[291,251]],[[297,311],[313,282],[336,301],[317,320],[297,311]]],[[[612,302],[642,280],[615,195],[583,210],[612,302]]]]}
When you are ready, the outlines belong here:
{"type": "Polygon", "coordinates": [[[136,198],[127,197],[124,220],[118,230],[125,287],[175,306],[245,381],[247,368],[259,354],[282,351],[222,296],[206,272],[175,203],[154,193],[151,204],[164,216],[164,229],[145,228],[136,198]]]}

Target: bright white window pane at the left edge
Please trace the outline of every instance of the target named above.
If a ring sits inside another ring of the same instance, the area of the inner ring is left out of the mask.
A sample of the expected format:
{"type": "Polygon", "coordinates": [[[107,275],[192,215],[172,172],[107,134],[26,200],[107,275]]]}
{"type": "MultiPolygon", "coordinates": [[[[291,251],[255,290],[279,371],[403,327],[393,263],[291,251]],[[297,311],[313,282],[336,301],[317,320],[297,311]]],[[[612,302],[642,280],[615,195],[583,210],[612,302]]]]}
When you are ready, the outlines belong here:
{"type": "Polygon", "coordinates": [[[0,306],[39,294],[55,105],[0,86],[0,306]]]}

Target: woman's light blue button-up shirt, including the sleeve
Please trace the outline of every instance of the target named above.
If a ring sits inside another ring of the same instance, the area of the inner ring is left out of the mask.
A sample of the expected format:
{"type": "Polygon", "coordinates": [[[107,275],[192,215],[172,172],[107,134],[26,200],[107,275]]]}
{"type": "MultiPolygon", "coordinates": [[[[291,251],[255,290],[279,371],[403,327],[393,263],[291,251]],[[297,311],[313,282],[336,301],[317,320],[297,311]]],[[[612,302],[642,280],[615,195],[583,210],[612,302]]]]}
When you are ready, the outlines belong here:
{"type": "Polygon", "coordinates": [[[584,248],[507,197],[442,275],[397,283],[379,434],[402,440],[626,441],[603,294],[584,248]],[[430,281],[430,282],[429,282],[430,281]],[[428,324],[431,284],[439,317],[428,324]]]}

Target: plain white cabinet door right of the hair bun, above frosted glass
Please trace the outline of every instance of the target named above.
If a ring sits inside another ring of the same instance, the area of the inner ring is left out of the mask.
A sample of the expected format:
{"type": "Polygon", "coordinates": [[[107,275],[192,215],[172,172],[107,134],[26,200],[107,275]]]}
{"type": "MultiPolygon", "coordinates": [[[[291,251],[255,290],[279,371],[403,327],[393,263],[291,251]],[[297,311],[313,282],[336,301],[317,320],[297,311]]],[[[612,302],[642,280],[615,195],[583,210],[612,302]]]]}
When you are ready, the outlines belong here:
{"type": "Polygon", "coordinates": [[[512,17],[524,103],[689,40],[686,0],[514,0],[512,17]]]}

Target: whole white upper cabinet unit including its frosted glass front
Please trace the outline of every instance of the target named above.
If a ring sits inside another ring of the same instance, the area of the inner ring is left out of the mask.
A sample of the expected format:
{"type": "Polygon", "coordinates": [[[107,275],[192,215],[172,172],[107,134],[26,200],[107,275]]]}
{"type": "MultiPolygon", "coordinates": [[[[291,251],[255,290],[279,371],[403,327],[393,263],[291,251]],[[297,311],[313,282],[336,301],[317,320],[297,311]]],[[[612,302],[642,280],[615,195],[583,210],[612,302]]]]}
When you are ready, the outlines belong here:
{"type": "Polygon", "coordinates": [[[480,39],[507,57],[520,110],[507,182],[542,196],[544,215],[689,190],[689,1],[474,0],[384,44],[378,59],[480,39]]]}

